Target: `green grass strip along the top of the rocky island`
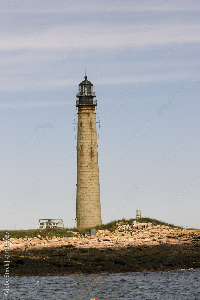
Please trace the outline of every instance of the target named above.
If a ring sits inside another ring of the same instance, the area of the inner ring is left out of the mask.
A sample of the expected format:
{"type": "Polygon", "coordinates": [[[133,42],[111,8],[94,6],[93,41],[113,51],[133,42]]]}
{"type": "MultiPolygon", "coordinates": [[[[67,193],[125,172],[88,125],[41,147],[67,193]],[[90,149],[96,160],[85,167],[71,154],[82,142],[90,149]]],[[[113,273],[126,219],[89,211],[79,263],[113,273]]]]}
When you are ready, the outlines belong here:
{"type": "MultiPolygon", "coordinates": [[[[182,226],[175,226],[174,224],[170,224],[170,223],[166,223],[163,221],[159,221],[156,219],[151,219],[151,218],[141,218],[139,220],[137,220],[139,223],[152,223],[153,225],[158,225],[158,224],[163,224],[166,226],[170,226],[170,227],[175,227],[175,228],[179,228],[179,229],[184,229],[184,227],[182,226]]],[[[117,229],[117,226],[115,225],[116,223],[119,222],[124,222],[125,225],[131,225],[133,223],[133,219],[130,220],[126,220],[126,219],[122,219],[122,220],[117,220],[117,221],[112,221],[109,222],[107,224],[102,224],[100,226],[96,226],[96,230],[98,229],[108,229],[110,232],[114,232],[115,229],[117,229]]],[[[67,232],[67,231],[79,231],[79,233],[82,234],[87,234],[88,233],[88,228],[81,228],[81,229],[77,229],[77,228],[53,228],[53,229],[29,229],[29,230],[8,230],[9,232],[9,237],[11,238],[24,238],[25,236],[27,236],[28,238],[33,238],[37,235],[41,235],[41,237],[52,237],[52,236],[58,236],[58,237],[69,237],[69,236],[74,236],[71,232],[67,232]],[[48,234],[49,233],[49,234],[48,234]]],[[[195,230],[195,228],[190,228],[190,230],[195,230]]],[[[2,235],[1,237],[4,237],[4,235],[2,235]]]]}

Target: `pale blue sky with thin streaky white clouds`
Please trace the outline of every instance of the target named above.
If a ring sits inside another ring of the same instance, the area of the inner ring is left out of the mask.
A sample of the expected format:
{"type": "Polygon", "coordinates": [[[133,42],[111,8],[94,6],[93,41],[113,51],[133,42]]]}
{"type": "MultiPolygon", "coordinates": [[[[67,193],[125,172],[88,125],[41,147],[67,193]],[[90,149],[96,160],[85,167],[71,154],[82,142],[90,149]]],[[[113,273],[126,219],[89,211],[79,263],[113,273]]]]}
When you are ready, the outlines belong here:
{"type": "Polygon", "coordinates": [[[1,230],[75,226],[85,67],[102,222],[139,209],[200,228],[199,10],[197,0],[1,0],[1,230]]]}

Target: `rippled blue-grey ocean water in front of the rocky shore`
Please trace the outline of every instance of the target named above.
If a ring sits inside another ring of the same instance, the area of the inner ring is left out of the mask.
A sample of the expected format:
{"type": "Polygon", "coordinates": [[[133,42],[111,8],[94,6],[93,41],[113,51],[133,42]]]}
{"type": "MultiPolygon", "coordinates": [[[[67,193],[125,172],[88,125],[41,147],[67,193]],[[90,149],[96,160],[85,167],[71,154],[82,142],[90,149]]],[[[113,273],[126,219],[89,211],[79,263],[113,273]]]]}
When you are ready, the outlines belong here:
{"type": "Polygon", "coordinates": [[[0,277],[0,299],[10,300],[199,300],[200,269],[138,273],[0,277]]]}

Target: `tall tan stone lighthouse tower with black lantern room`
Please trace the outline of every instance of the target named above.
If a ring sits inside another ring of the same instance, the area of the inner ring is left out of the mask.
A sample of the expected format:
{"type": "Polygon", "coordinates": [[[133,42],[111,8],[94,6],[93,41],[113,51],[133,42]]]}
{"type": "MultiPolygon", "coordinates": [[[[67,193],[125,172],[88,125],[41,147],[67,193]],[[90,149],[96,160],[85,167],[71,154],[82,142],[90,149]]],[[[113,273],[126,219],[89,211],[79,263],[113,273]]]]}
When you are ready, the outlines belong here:
{"type": "Polygon", "coordinates": [[[77,191],[76,227],[93,228],[101,225],[99,167],[95,106],[97,100],[93,84],[87,80],[79,84],[77,134],[77,191]]]}

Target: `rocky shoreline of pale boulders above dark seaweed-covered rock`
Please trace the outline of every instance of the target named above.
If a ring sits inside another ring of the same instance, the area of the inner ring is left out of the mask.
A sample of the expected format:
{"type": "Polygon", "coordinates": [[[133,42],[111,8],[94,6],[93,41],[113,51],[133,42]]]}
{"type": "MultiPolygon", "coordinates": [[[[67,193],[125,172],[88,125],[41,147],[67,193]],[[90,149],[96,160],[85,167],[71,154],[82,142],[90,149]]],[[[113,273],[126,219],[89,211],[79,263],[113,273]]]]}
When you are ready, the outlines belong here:
{"type": "MultiPolygon", "coordinates": [[[[96,236],[10,238],[11,276],[200,268],[200,230],[117,223],[96,236]]],[[[0,241],[4,275],[4,238],[0,241]]]]}

